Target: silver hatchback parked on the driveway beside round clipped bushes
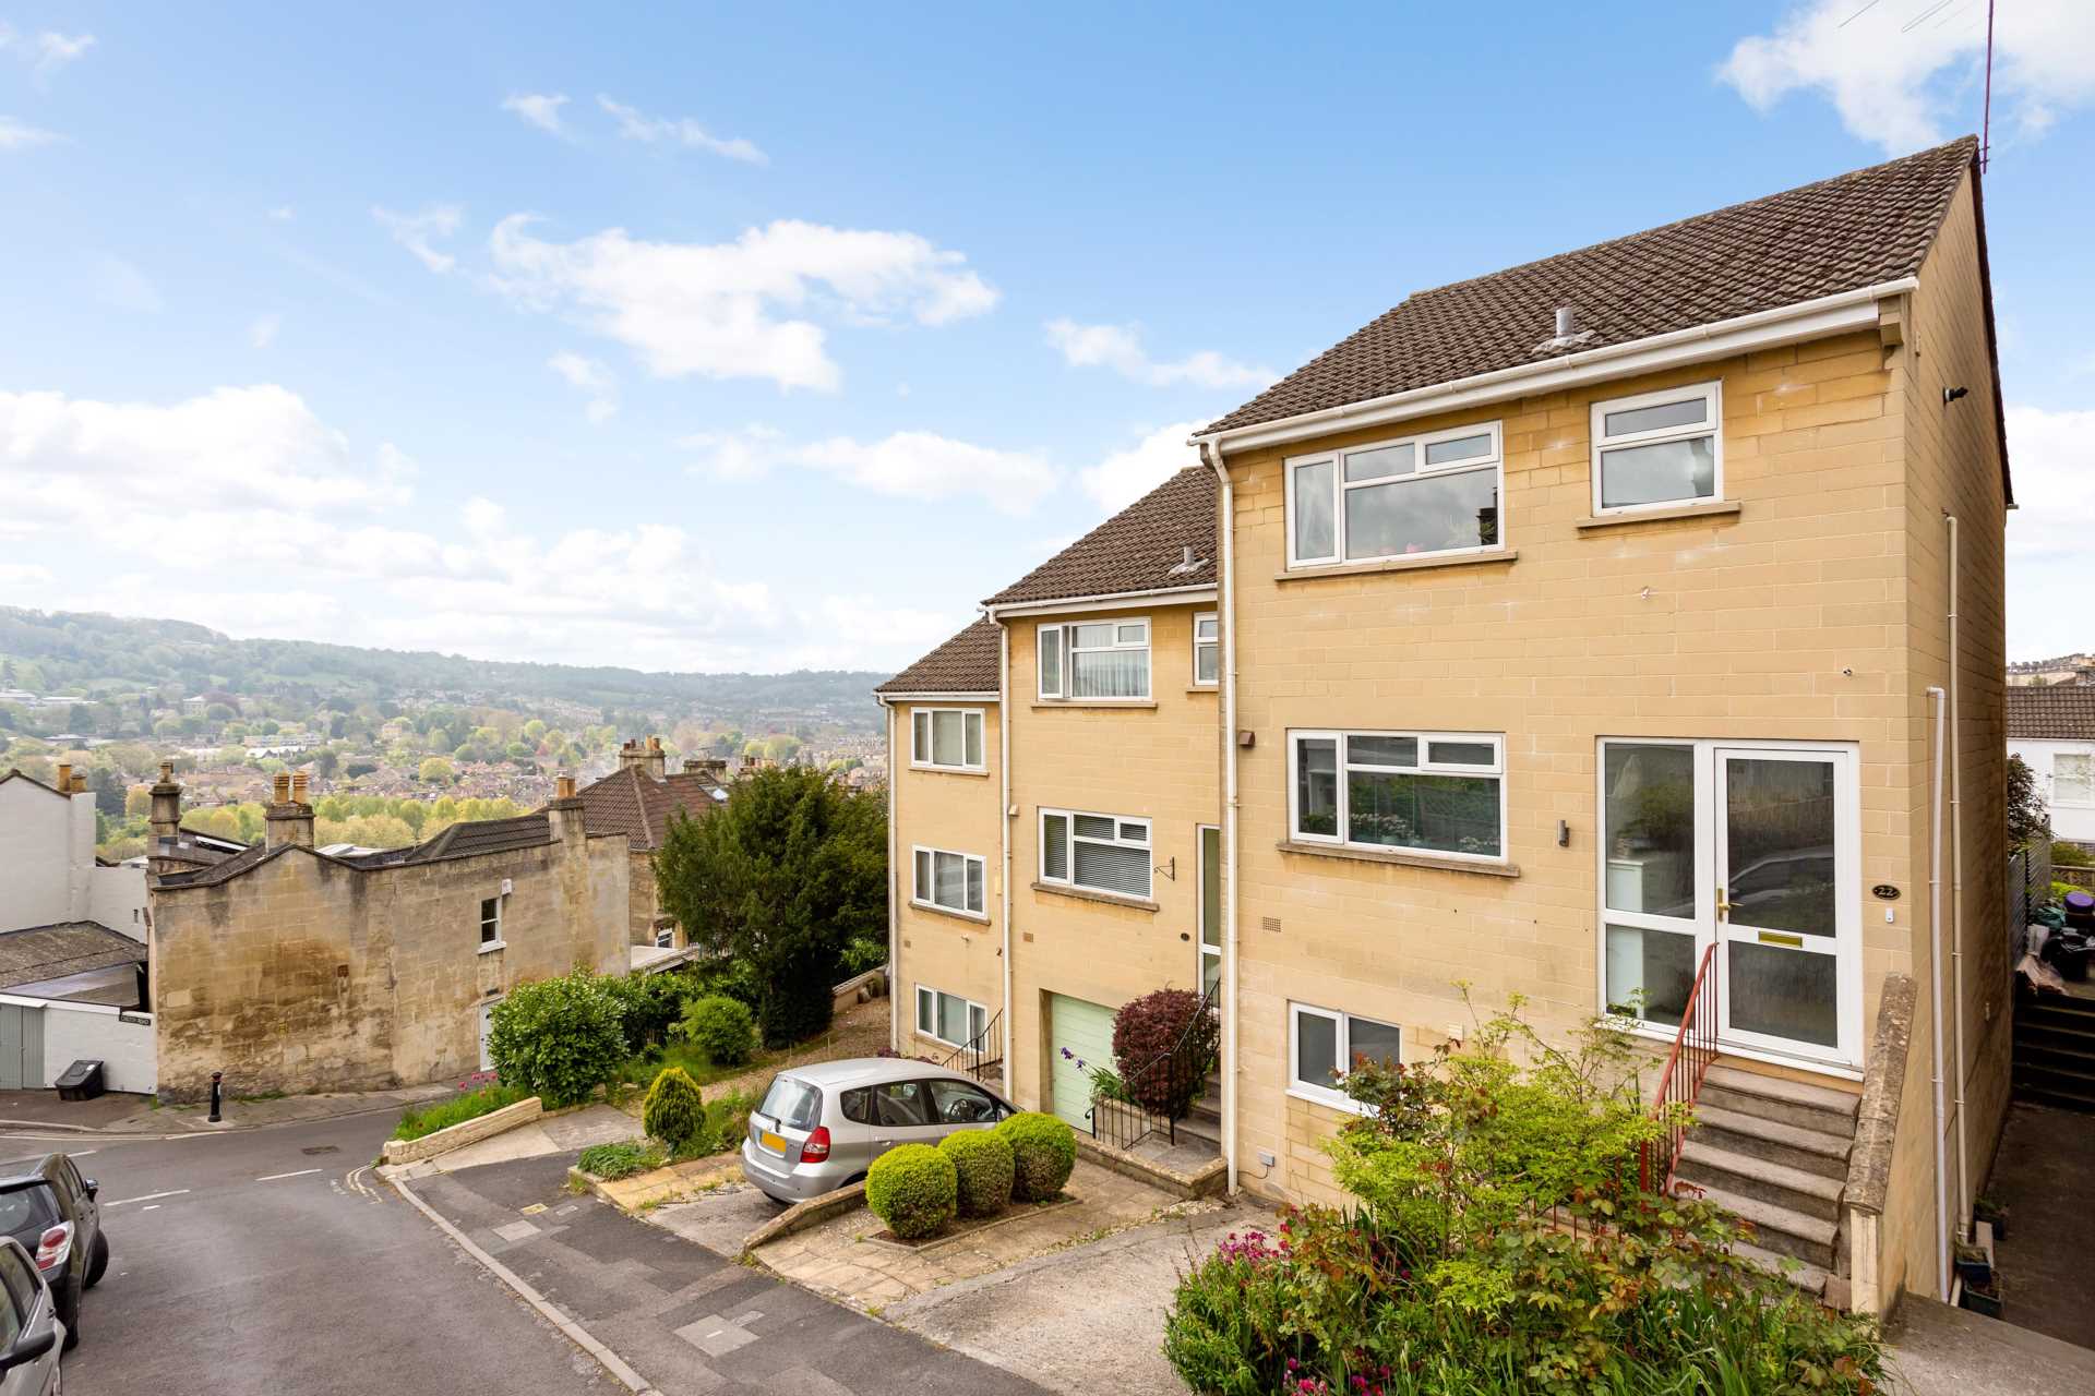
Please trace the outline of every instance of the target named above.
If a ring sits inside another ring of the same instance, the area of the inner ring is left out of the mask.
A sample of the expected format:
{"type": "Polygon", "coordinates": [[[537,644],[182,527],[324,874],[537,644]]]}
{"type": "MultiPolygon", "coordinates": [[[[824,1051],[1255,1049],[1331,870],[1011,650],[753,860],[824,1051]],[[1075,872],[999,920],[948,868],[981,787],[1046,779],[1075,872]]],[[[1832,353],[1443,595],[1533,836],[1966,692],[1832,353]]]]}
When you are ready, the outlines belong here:
{"type": "Polygon", "coordinates": [[[924,1061],[819,1061],[771,1078],[750,1111],[742,1176],[779,1201],[804,1201],[857,1183],[897,1145],[934,1145],[1014,1113],[972,1076],[924,1061]]]}

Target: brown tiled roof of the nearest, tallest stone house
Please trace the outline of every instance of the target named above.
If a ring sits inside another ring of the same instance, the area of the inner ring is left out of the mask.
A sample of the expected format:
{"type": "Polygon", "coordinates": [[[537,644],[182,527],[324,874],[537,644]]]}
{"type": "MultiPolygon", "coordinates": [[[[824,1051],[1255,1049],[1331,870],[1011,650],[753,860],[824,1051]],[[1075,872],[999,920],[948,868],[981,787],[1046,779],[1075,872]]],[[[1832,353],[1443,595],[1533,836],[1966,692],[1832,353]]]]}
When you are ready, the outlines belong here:
{"type": "Polygon", "coordinates": [[[1578,350],[1733,320],[1913,276],[1978,155],[1965,136],[1886,165],[1735,203],[1490,276],[1420,291],[1207,427],[1228,431],[1550,358],[1554,312],[1578,350]]]}

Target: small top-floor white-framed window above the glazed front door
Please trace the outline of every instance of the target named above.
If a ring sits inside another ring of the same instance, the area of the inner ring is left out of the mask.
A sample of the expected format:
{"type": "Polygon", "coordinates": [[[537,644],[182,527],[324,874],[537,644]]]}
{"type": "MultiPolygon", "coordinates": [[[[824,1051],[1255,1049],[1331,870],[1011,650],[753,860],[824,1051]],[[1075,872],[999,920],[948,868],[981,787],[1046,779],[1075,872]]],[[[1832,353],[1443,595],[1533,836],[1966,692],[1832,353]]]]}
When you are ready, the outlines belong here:
{"type": "Polygon", "coordinates": [[[1718,383],[1592,404],[1594,515],[1724,498],[1718,383]]]}

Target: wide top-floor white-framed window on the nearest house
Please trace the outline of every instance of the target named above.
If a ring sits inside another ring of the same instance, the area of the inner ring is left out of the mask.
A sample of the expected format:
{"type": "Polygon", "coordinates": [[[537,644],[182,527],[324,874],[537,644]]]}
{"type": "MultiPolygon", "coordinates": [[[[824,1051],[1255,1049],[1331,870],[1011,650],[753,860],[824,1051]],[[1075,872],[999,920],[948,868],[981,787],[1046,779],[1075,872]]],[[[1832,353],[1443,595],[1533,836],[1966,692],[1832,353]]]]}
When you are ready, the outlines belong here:
{"type": "Polygon", "coordinates": [[[1483,553],[1506,542],[1500,423],[1293,456],[1288,565],[1483,553]]]}

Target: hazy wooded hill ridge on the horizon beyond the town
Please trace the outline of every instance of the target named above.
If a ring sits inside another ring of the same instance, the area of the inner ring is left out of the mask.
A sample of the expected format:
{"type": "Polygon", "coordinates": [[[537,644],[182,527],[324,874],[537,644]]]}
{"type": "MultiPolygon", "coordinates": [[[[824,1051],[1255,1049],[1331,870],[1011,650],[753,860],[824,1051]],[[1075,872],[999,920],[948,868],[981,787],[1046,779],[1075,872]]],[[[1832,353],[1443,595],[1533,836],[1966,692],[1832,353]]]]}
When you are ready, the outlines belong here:
{"type": "Polygon", "coordinates": [[[432,651],[358,649],[312,640],[235,640],[180,620],[0,607],[0,689],[84,689],[92,697],[180,689],[302,697],[316,705],[436,699],[536,707],[660,710],[756,724],[802,714],[878,726],[872,689],[886,674],[643,674],[568,663],[499,663],[432,651]]]}

